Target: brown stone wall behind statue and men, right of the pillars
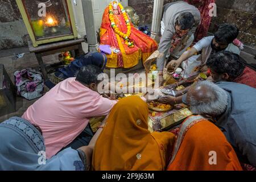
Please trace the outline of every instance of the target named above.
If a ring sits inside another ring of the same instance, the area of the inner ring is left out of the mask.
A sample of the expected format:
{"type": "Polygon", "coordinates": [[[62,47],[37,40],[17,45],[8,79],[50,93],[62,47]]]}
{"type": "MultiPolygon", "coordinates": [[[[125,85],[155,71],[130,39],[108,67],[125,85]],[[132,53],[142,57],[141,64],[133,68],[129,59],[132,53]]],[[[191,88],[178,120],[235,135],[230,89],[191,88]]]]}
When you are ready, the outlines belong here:
{"type": "MultiPolygon", "coordinates": [[[[164,0],[164,4],[175,0],[164,0]]],[[[141,25],[152,23],[153,0],[129,0],[140,17],[141,25]]],[[[214,32],[221,23],[234,23],[240,29],[240,39],[245,45],[256,48],[256,1],[216,0],[217,16],[212,18],[209,32],[214,32]]]]}

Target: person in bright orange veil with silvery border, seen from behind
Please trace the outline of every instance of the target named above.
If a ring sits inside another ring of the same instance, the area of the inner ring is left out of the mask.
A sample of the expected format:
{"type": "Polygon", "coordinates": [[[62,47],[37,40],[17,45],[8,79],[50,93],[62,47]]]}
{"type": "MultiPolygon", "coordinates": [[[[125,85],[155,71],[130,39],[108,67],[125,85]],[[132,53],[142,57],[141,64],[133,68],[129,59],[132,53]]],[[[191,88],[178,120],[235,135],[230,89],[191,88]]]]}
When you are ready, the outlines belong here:
{"type": "Polygon", "coordinates": [[[221,130],[201,115],[193,115],[181,125],[167,170],[233,171],[242,168],[221,130]]]}

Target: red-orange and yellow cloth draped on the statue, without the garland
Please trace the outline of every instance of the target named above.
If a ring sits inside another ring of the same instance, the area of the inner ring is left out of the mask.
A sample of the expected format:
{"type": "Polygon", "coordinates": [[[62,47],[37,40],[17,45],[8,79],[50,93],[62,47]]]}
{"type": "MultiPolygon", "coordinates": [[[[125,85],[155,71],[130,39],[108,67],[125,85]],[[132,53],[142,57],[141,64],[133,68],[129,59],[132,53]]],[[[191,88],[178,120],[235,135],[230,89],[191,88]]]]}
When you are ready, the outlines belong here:
{"type": "MultiPolygon", "coordinates": [[[[118,6],[119,14],[114,14],[115,24],[121,32],[126,33],[127,27],[125,19],[122,16],[121,10],[118,6]]],[[[131,23],[130,23],[131,24],[131,23]]],[[[102,23],[100,28],[100,43],[109,45],[110,47],[118,48],[120,53],[112,53],[107,55],[108,63],[106,67],[109,68],[131,68],[139,63],[142,59],[143,63],[146,59],[158,49],[158,44],[154,39],[150,38],[143,32],[137,30],[131,24],[131,35],[129,39],[134,42],[134,47],[129,48],[125,44],[125,40],[118,34],[115,34],[110,20],[109,20],[109,7],[107,7],[102,16],[102,23]]]]}

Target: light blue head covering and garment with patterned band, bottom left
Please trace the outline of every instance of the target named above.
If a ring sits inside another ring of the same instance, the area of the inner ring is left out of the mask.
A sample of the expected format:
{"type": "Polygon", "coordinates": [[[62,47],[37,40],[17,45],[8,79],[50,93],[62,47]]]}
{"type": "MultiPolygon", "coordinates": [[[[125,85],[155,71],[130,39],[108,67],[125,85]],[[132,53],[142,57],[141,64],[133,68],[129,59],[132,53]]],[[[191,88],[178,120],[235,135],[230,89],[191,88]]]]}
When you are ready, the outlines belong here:
{"type": "Polygon", "coordinates": [[[0,170],[84,170],[77,150],[66,148],[46,159],[46,146],[38,129],[23,118],[0,124],[0,170]]]}

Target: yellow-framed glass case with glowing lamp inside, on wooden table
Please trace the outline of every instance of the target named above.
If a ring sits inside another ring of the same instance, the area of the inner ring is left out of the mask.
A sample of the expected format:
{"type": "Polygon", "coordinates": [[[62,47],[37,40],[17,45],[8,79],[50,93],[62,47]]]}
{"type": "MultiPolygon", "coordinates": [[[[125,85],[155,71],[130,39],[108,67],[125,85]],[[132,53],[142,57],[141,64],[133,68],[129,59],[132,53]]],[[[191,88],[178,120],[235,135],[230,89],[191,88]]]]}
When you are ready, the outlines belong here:
{"type": "Polygon", "coordinates": [[[73,1],[15,0],[15,2],[34,47],[78,38],[73,1]],[[45,7],[41,8],[42,3],[45,4],[45,7]]]}

